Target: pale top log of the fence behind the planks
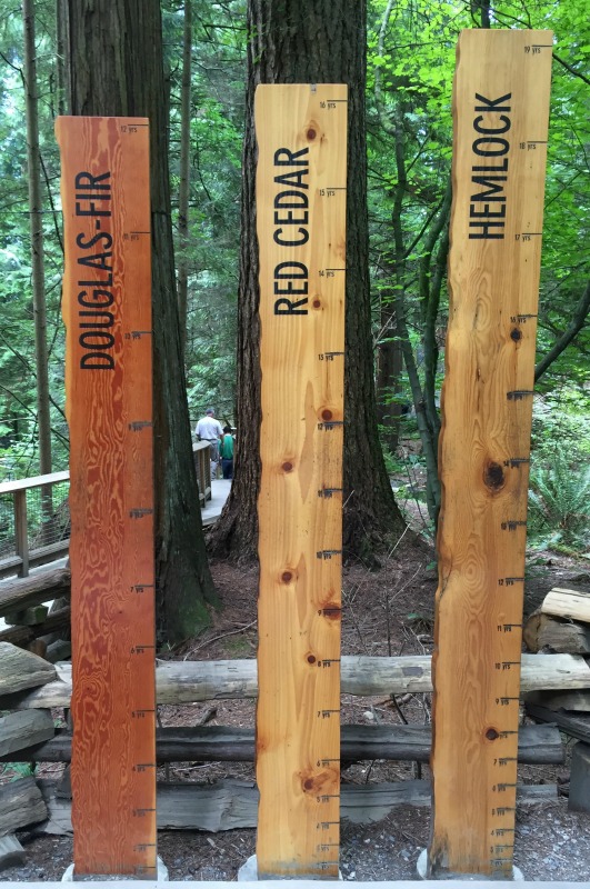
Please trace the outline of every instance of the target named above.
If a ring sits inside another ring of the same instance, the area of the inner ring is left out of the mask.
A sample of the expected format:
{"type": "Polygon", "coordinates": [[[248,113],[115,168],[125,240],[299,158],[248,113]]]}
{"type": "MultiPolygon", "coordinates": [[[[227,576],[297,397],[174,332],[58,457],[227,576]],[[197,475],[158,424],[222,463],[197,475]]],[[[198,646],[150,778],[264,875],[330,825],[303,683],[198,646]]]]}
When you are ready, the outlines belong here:
{"type": "MultiPolygon", "coordinates": [[[[57,663],[58,680],[33,692],[0,698],[6,710],[50,709],[70,706],[71,663],[57,663]]],[[[523,655],[521,692],[538,689],[590,688],[590,667],[577,655],[523,655]]],[[[256,698],[256,660],[158,662],[158,703],[196,703],[206,700],[256,698]]],[[[379,696],[432,691],[430,657],[367,658],[344,656],[343,695],[379,696]]]]}

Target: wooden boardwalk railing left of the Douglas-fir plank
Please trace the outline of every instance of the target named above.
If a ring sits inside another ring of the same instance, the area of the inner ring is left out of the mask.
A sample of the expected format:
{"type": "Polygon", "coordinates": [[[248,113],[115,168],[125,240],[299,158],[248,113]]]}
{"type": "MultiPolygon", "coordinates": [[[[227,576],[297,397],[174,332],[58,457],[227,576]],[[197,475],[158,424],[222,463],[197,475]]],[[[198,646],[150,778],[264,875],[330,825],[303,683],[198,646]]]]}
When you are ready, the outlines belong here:
{"type": "Polygon", "coordinates": [[[67,556],[69,480],[69,472],[51,472],[0,483],[0,578],[28,577],[31,567],[67,556]]]}

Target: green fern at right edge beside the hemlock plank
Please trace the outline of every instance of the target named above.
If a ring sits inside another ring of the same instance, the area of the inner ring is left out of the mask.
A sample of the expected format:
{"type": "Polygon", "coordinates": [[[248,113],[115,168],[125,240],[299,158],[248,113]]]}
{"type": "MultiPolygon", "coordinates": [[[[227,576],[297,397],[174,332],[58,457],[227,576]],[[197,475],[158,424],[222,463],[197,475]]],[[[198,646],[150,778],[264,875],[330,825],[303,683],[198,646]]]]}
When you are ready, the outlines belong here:
{"type": "Polygon", "coordinates": [[[563,448],[531,471],[529,529],[543,546],[584,549],[590,542],[590,466],[572,463],[563,448]]]}

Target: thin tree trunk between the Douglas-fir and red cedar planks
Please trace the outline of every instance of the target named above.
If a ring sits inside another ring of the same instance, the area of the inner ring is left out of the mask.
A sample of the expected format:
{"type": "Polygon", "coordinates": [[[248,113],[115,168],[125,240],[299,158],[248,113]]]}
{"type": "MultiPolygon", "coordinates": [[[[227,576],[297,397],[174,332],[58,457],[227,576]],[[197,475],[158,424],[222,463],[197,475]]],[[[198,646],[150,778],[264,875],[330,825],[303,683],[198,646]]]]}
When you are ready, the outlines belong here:
{"type": "Polygon", "coordinates": [[[184,0],[184,37],[182,50],[182,98],[180,112],[180,188],[178,196],[178,234],[180,257],[178,261],[178,311],[180,316],[180,341],[182,351],[187,342],[187,307],[189,268],[187,259],[189,236],[190,192],[190,98],[192,58],[192,0],[184,0]]]}

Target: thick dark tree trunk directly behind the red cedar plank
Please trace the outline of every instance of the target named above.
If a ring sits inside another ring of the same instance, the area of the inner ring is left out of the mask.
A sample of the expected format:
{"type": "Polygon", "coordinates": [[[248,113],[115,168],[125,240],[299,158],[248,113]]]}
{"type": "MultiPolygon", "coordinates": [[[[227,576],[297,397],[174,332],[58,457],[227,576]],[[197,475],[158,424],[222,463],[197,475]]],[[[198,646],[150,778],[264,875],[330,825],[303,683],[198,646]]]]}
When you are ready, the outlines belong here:
{"type": "Polygon", "coordinates": [[[259,268],[256,232],[258,83],[348,83],[349,176],[344,428],[344,550],[364,556],[404,528],[376,424],[364,136],[364,0],[250,0],[242,247],[238,307],[238,440],[232,491],[211,533],[219,553],[252,558],[260,483],[259,268]]]}

